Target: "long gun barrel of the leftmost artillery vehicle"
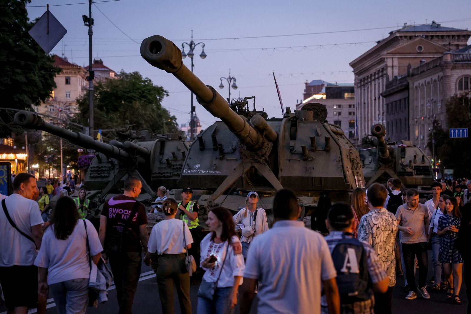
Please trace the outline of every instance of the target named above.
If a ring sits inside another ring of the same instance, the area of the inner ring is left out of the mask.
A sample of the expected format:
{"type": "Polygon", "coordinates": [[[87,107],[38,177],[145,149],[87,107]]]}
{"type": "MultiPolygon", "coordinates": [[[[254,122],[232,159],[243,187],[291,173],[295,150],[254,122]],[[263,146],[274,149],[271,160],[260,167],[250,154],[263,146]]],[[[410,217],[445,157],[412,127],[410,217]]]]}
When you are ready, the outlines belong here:
{"type": "Polygon", "coordinates": [[[79,132],[69,131],[67,129],[59,128],[58,126],[45,122],[37,114],[20,111],[15,114],[15,122],[28,129],[43,130],[48,133],[57,135],[58,137],[65,138],[73,144],[96,150],[97,152],[104,153],[109,157],[119,160],[131,161],[132,155],[121,148],[114,145],[106,144],[95,140],[93,137],[79,132]]]}

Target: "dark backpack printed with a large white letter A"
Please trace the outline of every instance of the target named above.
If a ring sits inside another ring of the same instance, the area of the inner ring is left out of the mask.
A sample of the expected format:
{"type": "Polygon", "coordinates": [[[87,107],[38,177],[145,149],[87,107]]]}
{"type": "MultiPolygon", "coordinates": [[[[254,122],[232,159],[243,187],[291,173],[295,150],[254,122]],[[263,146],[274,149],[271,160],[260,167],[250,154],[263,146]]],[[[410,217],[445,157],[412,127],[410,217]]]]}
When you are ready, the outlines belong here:
{"type": "MultiPolygon", "coordinates": [[[[335,242],[336,240],[327,240],[335,242]]],[[[372,297],[368,257],[360,241],[342,236],[332,250],[332,260],[337,271],[337,286],[341,304],[365,301],[372,297]]]]}

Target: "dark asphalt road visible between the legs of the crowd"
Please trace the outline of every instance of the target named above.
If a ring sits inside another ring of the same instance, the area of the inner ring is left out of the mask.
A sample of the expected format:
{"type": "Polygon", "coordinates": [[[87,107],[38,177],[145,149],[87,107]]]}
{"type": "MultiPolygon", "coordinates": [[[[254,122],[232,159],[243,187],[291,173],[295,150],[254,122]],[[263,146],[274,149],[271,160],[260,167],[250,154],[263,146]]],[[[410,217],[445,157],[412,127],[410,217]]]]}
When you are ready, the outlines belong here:
{"type": "MultiPolygon", "coordinates": [[[[430,253],[430,251],[429,251],[430,253]]],[[[429,274],[427,276],[427,282],[432,278],[432,267],[431,257],[429,254],[429,274]]],[[[418,272],[417,272],[418,274],[418,272]]],[[[190,298],[193,306],[193,313],[196,313],[196,303],[197,297],[196,292],[198,291],[198,284],[194,284],[190,287],[190,298]]],[[[460,298],[462,300],[462,305],[455,305],[450,300],[446,298],[446,291],[440,291],[433,293],[430,291],[430,299],[422,299],[417,296],[414,300],[406,300],[407,291],[404,290],[404,277],[398,276],[396,287],[393,291],[393,300],[392,300],[392,312],[397,314],[461,314],[466,313],[466,308],[468,306],[468,299],[466,298],[466,286],[462,285],[460,298]]],[[[251,313],[256,312],[255,300],[252,306],[251,313]]],[[[28,313],[36,313],[36,310],[30,310],[28,313]]],[[[48,299],[48,314],[57,313],[54,300],[52,298],[48,299]]],[[[116,290],[114,286],[110,287],[108,294],[108,302],[98,305],[97,308],[89,307],[87,313],[90,314],[109,314],[109,313],[118,313],[118,305],[116,301],[116,290]]],[[[152,313],[160,314],[162,313],[162,307],[160,303],[159,293],[157,290],[157,282],[155,281],[155,274],[150,267],[142,267],[141,276],[139,279],[138,289],[136,291],[136,297],[134,298],[133,313],[152,313]]],[[[180,308],[178,304],[177,294],[175,293],[175,313],[180,313],[180,308]]],[[[238,308],[236,308],[235,313],[239,313],[238,308]]],[[[0,306],[0,314],[6,314],[5,306],[0,306]]]]}

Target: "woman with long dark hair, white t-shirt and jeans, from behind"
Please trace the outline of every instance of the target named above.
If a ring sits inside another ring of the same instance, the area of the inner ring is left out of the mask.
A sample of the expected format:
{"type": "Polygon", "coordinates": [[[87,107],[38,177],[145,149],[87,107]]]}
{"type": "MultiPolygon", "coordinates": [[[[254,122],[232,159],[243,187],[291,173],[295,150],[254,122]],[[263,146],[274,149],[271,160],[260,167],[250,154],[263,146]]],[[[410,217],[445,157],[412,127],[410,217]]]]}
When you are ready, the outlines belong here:
{"type": "Polygon", "coordinates": [[[97,264],[103,250],[98,233],[89,220],[79,219],[75,202],[68,196],[59,198],[50,223],[34,261],[39,267],[38,290],[45,297],[51,293],[59,314],[85,313],[90,276],[86,241],[88,235],[97,264]]]}

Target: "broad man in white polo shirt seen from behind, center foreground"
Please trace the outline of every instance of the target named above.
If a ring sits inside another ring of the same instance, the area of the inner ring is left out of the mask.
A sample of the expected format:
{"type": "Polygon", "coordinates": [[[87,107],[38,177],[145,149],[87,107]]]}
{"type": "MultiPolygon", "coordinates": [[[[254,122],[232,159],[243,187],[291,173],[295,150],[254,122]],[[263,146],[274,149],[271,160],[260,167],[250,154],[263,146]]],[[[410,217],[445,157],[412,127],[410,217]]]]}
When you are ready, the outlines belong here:
{"type": "Polygon", "coordinates": [[[250,245],[244,283],[239,289],[241,314],[250,313],[257,281],[262,282],[258,313],[319,314],[321,282],[329,313],[340,313],[336,272],[327,242],[320,233],[297,221],[300,212],[291,190],[276,192],[273,199],[276,222],[250,245]]]}

